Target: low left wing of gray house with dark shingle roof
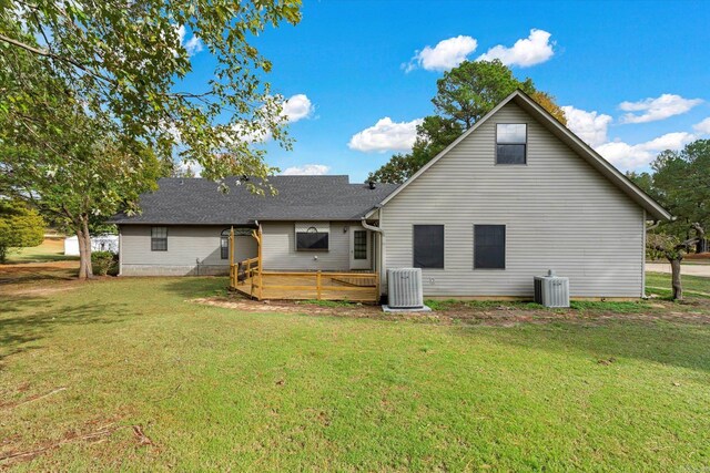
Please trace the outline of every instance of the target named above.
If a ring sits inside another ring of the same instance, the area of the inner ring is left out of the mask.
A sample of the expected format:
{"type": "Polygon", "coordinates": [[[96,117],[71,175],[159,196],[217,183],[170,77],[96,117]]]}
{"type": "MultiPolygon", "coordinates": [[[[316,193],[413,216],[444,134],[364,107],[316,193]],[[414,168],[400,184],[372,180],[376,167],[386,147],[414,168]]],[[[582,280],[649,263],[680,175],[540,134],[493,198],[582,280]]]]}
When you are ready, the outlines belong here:
{"type": "Polygon", "coordinates": [[[395,185],[351,184],[347,176],[273,176],[275,196],[255,195],[237,178],[229,193],[201,178],[164,178],[141,197],[142,213],[113,218],[121,276],[225,275],[230,229],[234,259],[256,256],[261,226],[265,270],[372,270],[373,232],[362,219],[395,185]]]}

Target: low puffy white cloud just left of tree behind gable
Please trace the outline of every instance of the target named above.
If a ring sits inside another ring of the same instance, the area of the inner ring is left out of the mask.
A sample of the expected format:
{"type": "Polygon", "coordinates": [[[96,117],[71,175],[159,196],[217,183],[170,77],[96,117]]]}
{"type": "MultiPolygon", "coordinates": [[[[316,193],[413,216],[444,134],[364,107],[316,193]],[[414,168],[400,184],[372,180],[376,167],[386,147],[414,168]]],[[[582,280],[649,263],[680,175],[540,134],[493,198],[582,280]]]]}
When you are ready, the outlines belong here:
{"type": "Polygon", "coordinates": [[[408,151],[414,146],[417,125],[422,122],[422,119],[417,119],[396,123],[385,116],[375,126],[354,134],[347,146],[363,152],[408,151]]]}

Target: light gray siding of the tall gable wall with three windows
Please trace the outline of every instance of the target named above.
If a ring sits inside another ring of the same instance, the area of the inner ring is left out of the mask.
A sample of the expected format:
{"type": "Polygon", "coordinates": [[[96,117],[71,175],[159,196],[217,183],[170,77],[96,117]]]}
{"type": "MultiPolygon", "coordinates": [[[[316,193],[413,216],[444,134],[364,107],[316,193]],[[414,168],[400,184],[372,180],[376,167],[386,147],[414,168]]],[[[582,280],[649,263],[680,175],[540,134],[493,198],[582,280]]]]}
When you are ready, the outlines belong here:
{"type": "Polygon", "coordinates": [[[445,225],[427,296],[531,296],[554,268],[577,297],[640,297],[643,209],[509,103],[386,204],[386,267],[412,266],[412,226],[445,225]],[[495,164],[496,123],[527,123],[527,165],[495,164]],[[506,269],[473,269],[474,224],[506,225],[506,269]]]}

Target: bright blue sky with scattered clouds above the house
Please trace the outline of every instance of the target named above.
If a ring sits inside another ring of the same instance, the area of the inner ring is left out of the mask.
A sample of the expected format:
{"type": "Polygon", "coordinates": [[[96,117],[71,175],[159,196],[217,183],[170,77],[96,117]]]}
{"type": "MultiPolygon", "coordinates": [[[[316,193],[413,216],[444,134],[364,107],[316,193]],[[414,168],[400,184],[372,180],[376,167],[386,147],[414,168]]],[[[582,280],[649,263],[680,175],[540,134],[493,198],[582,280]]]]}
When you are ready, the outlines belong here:
{"type": "MultiPolygon", "coordinates": [[[[692,1],[305,0],[300,24],[255,40],[274,92],[305,114],[293,151],[267,143],[267,162],[363,181],[433,113],[443,70],[488,53],[569,106],[570,128],[617,167],[646,169],[658,151],[710,137],[709,24],[710,4],[692,1]]],[[[199,88],[211,60],[192,59],[199,88]]]]}

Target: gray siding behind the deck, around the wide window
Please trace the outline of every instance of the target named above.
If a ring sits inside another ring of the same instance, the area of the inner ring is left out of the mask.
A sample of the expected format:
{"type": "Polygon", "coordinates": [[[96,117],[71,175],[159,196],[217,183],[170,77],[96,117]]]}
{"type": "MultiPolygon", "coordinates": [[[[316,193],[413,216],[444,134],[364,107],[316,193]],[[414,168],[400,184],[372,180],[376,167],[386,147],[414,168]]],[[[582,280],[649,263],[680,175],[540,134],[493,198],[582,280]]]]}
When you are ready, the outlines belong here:
{"type": "Polygon", "coordinates": [[[331,270],[349,269],[349,232],[358,222],[331,222],[328,251],[296,251],[294,222],[263,222],[264,269],[331,270]],[[343,232],[348,227],[347,232],[343,232]]]}

